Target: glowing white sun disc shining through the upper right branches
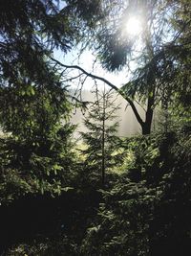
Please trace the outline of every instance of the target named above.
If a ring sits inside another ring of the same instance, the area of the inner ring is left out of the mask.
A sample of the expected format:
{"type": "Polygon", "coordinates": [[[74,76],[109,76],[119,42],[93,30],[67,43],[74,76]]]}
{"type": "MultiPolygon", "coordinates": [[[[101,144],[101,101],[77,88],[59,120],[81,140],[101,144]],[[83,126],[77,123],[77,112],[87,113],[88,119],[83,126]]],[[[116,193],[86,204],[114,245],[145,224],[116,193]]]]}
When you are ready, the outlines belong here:
{"type": "Polygon", "coordinates": [[[141,32],[141,24],[137,17],[130,17],[125,24],[127,35],[136,36],[141,32]]]}

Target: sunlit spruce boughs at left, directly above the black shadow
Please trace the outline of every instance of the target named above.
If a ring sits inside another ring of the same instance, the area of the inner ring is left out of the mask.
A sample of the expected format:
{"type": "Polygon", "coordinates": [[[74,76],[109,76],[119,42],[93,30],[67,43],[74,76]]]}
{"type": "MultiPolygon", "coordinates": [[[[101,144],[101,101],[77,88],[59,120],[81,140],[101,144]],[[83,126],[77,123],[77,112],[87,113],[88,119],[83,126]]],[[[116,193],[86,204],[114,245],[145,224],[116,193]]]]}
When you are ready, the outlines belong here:
{"type": "Polygon", "coordinates": [[[75,154],[65,125],[46,137],[1,139],[1,201],[9,203],[28,193],[60,195],[70,187],[75,154]]]}

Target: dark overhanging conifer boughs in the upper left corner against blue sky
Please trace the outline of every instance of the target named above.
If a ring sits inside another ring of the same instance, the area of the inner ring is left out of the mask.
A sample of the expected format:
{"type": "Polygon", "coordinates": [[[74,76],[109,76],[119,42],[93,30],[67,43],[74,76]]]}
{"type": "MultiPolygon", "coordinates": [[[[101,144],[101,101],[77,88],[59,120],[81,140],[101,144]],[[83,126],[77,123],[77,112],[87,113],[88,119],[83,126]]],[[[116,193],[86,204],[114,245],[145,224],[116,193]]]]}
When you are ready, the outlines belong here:
{"type": "Polygon", "coordinates": [[[28,77],[35,84],[52,85],[50,62],[45,56],[54,48],[67,52],[75,29],[64,9],[53,1],[1,1],[1,86],[28,77]]]}

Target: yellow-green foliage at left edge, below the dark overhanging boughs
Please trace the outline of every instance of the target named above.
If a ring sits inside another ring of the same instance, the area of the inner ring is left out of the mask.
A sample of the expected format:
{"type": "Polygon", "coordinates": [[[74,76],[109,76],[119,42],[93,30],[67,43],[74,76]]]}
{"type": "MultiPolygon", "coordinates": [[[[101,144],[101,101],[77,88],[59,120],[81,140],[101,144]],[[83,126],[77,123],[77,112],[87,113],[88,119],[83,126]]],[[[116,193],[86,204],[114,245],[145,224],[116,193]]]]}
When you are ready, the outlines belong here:
{"type": "Polygon", "coordinates": [[[51,89],[15,84],[3,88],[0,98],[2,128],[17,137],[31,140],[52,136],[51,132],[59,127],[60,118],[66,118],[72,108],[61,84],[51,89]]]}

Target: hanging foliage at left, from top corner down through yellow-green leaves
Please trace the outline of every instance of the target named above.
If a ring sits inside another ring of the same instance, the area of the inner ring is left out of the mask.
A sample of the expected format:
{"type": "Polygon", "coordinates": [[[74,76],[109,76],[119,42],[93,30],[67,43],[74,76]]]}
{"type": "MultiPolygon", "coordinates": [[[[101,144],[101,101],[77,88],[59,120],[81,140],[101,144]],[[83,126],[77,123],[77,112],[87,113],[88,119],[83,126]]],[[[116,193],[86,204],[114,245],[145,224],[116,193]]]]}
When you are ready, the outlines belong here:
{"type": "Polygon", "coordinates": [[[82,13],[86,3],[81,3],[1,1],[0,122],[3,128],[19,134],[24,129],[33,129],[37,107],[42,108],[41,112],[37,110],[45,118],[43,127],[47,122],[49,125],[57,122],[57,115],[68,115],[66,84],[60,80],[50,59],[54,49],[66,54],[79,35],[72,18],[74,9],[82,20],[91,19],[91,13],[95,12],[95,6],[90,5],[90,16],[86,16],[82,13]],[[49,120],[47,108],[52,111],[53,120],[49,120]],[[20,123],[19,115],[26,116],[25,124],[20,123]]]}

